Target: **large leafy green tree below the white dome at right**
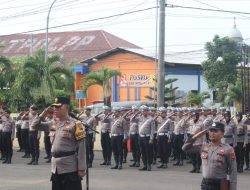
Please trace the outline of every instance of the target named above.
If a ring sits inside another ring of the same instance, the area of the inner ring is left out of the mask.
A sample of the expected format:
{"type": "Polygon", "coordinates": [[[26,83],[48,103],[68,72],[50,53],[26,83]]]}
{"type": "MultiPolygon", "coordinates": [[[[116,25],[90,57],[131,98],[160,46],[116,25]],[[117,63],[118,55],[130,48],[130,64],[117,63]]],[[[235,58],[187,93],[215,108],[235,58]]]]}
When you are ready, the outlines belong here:
{"type": "Polygon", "coordinates": [[[227,91],[229,84],[235,84],[237,79],[236,69],[241,61],[239,45],[228,37],[216,35],[212,42],[206,43],[205,48],[207,60],[202,63],[202,69],[208,87],[227,91]]]}

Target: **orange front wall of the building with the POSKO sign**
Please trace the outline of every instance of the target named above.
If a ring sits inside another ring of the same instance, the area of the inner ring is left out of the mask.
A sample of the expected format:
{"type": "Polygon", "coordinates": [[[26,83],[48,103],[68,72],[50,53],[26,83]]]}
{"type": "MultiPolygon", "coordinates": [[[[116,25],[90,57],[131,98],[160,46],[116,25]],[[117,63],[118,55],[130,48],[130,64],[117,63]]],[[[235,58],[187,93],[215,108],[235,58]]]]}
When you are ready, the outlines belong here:
{"type": "MultiPolygon", "coordinates": [[[[126,80],[130,84],[133,82],[141,82],[140,80],[129,80],[131,75],[146,75],[149,78],[153,78],[155,74],[155,63],[153,60],[132,53],[117,53],[107,58],[103,58],[98,62],[92,64],[90,66],[90,71],[100,70],[103,66],[119,70],[123,75],[125,75],[126,80]]],[[[76,89],[78,89],[78,87],[80,86],[78,80],[83,77],[83,75],[79,75],[76,76],[76,89]]],[[[124,79],[124,77],[122,78],[124,79]]],[[[145,96],[149,95],[148,85],[146,87],[139,87],[138,85],[126,85],[125,87],[121,87],[120,81],[122,80],[122,78],[117,78],[117,94],[119,95],[118,101],[146,100],[145,96]],[[137,93],[135,94],[135,92],[137,93]]],[[[148,81],[150,81],[151,85],[154,85],[152,84],[152,80],[148,81]]],[[[113,85],[111,84],[111,86],[113,85]]],[[[154,92],[152,92],[152,94],[154,95],[154,92]]],[[[92,86],[88,88],[87,97],[87,105],[92,104],[94,101],[102,100],[102,88],[100,86],[92,86]]]]}

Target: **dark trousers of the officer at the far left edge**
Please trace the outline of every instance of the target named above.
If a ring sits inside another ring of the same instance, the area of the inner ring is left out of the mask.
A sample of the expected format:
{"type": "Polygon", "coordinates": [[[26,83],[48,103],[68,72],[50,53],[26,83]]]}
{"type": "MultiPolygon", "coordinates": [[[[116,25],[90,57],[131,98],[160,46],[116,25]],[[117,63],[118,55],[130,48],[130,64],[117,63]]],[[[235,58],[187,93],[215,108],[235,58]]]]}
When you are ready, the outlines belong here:
{"type": "Polygon", "coordinates": [[[6,156],[6,160],[11,161],[11,157],[13,155],[13,146],[11,141],[11,132],[3,132],[3,152],[6,156]]]}

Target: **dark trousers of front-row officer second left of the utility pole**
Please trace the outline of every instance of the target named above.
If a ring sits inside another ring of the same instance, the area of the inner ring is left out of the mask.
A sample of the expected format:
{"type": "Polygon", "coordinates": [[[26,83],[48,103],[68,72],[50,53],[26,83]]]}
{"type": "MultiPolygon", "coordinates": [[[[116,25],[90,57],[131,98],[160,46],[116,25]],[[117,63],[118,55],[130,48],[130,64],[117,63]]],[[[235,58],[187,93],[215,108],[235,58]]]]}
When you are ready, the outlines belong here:
{"type": "Polygon", "coordinates": [[[132,157],[135,163],[140,163],[140,147],[139,147],[139,135],[130,135],[130,148],[132,152],[132,157]]]}

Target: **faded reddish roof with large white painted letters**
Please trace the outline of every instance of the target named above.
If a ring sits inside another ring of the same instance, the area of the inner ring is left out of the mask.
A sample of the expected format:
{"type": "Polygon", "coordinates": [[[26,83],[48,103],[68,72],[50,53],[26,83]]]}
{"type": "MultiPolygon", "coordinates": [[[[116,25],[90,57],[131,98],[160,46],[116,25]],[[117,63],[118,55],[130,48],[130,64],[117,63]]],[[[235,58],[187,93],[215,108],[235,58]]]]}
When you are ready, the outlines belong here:
{"type": "MultiPolygon", "coordinates": [[[[65,64],[70,61],[81,62],[100,55],[117,47],[140,47],[114,36],[103,30],[78,32],[51,32],[49,53],[59,53],[65,64]]],[[[0,55],[7,57],[30,55],[39,48],[45,47],[45,33],[14,34],[0,36],[0,55]]]]}

